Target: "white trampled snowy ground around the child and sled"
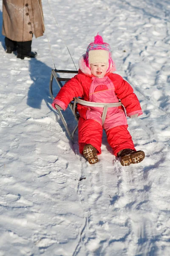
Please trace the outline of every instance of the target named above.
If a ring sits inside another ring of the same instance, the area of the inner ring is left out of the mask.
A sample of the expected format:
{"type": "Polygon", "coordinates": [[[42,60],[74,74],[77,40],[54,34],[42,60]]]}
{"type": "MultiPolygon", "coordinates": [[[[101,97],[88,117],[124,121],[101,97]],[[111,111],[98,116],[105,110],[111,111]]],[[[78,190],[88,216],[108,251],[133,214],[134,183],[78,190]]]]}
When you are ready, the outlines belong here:
{"type": "Polygon", "coordinates": [[[0,256],[169,256],[169,0],[42,4],[37,59],[5,53],[0,35],[0,256]],[[78,68],[97,32],[142,105],[139,119],[128,118],[146,154],[138,165],[122,167],[104,136],[90,166],[51,109],[51,52],[57,69],[75,70],[65,43],[78,68]]]}

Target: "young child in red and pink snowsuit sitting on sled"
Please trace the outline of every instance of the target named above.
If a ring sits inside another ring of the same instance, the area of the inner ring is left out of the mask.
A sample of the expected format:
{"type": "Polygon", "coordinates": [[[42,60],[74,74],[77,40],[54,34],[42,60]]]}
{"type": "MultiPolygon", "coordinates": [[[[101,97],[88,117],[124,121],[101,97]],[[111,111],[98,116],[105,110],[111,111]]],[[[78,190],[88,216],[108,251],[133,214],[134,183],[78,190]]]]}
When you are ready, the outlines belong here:
{"type": "MultiPolygon", "coordinates": [[[[142,115],[142,109],[133,89],[127,81],[112,72],[115,70],[110,45],[96,35],[89,44],[86,54],[79,59],[78,75],[70,79],[60,89],[52,106],[64,110],[74,97],[83,97],[88,102],[113,103],[121,100],[130,118],[142,115]]],[[[113,154],[120,157],[122,166],[140,163],[144,159],[143,151],[136,151],[127,131],[127,118],[122,106],[108,108],[102,125],[103,108],[78,105],[78,141],[79,152],[90,164],[98,162],[101,154],[102,131],[106,132],[113,154]]]]}

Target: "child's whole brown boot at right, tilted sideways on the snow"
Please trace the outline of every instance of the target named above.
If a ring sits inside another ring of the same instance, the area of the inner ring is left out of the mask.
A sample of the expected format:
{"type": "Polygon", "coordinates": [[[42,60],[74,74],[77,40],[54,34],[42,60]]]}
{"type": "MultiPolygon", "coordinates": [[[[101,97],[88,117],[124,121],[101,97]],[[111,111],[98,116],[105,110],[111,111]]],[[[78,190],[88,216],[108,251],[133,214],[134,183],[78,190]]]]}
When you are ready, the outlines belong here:
{"type": "Polygon", "coordinates": [[[144,151],[135,151],[130,148],[119,151],[118,157],[120,157],[120,163],[122,166],[129,166],[130,163],[140,163],[144,160],[144,151]]]}

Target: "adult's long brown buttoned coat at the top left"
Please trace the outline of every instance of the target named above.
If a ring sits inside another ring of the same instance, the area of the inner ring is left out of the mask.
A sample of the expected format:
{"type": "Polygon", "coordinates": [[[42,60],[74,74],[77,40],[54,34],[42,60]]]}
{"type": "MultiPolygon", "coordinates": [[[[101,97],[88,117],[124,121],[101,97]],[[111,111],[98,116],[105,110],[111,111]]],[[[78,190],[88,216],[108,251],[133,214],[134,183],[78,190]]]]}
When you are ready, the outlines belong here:
{"type": "Polygon", "coordinates": [[[2,34],[12,41],[31,41],[45,31],[41,0],[3,0],[2,34]]]}

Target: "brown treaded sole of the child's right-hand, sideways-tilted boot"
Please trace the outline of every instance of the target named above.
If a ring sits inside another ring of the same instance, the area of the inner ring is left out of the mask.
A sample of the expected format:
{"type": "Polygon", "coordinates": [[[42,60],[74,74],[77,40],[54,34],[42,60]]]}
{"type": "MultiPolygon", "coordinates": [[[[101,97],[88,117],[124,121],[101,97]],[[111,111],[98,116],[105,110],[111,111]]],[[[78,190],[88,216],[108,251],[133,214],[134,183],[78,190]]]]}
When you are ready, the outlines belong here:
{"type": "Polygon", "coordinates": [[[136,151],[129,156],[122,157],[120,163],[122,166],[129,166],[131,163],[140,163],[144,160],[145,154],[144,151],[136,151]]]}

